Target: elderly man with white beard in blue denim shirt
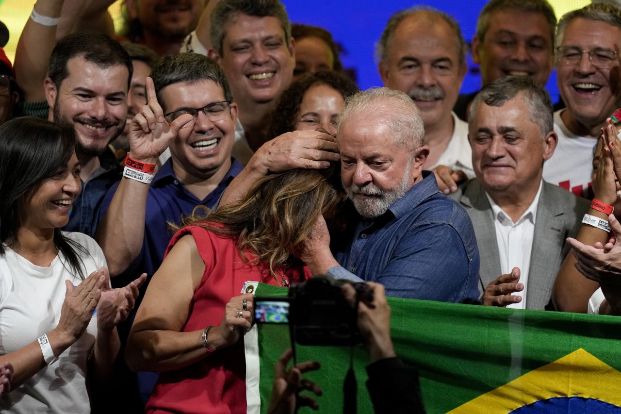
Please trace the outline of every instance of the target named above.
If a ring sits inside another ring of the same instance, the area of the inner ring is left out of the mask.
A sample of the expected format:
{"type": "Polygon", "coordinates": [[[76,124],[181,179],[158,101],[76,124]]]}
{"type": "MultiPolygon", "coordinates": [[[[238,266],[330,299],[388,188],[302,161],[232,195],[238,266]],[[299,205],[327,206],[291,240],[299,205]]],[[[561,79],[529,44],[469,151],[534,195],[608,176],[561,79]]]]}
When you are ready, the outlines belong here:
{"type": "Polygon", "coordinates": [[[343,188],[355,211],[345,214],[349,223],[335,235],[332,252],[319,217],[301,254],[312,272],[382,283],[392,297],[476,302],[474,229],[423,170],[429,149],[412,99],[388,88],[352,96],[337,141],[343,188]]]}

